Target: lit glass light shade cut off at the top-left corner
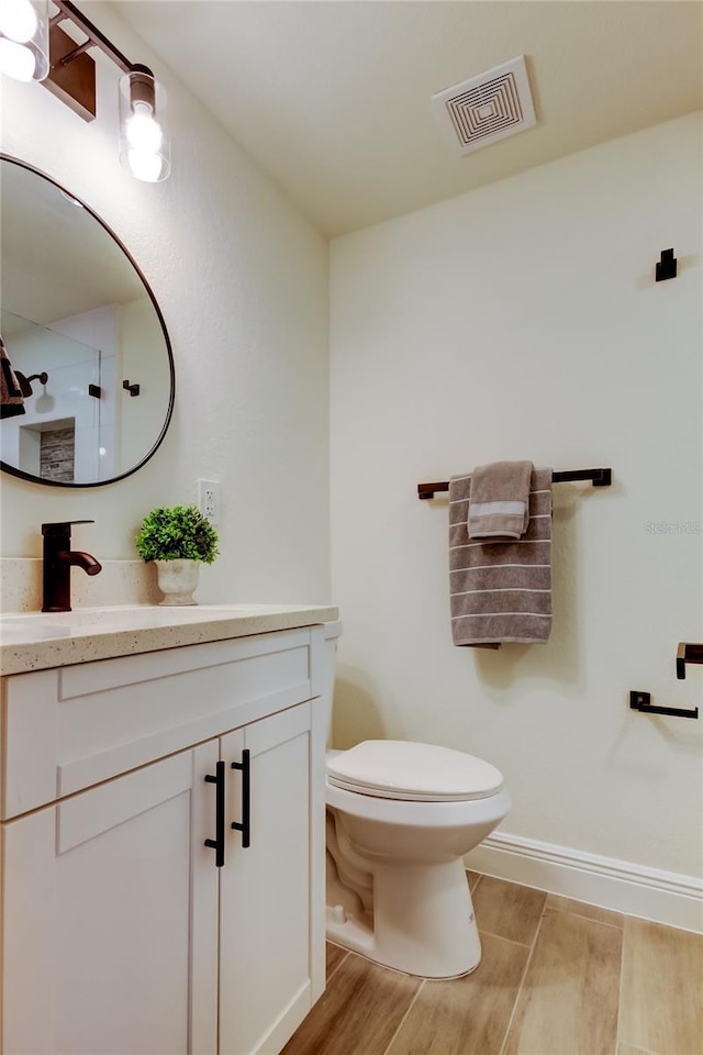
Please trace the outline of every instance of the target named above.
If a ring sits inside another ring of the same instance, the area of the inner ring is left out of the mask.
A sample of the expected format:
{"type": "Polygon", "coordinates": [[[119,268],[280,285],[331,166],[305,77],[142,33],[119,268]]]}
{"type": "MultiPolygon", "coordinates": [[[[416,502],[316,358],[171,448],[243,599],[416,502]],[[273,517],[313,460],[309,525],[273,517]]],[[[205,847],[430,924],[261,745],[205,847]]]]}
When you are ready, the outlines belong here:
{"type": "Polygon", "coordinates": [[[0,71],[15,80],[44,80],[48,0],[0,0],[0,71]]]}

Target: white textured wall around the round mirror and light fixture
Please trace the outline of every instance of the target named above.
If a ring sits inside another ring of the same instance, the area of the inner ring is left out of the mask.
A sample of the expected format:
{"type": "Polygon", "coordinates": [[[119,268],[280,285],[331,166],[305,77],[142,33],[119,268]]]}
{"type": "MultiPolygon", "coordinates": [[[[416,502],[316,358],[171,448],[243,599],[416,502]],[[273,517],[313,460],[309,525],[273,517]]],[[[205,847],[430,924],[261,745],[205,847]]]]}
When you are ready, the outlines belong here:
{"type": "Polygon", "coordinates": [[[196,501],[205,477],[221,482],[222,556],[199,599],[325,601],[326,243],[114,13],[90,9],[168,90],[170,178],[147,185],[120,167],[119,71],[101,55],[92,124],[42,86],[3,78],[2,149],[87,201],[130,248],[170,334],[176,409],[157,454],[123,482],[72,490],[3,474],[2,556],[38,556],[42,521],[93,518],[75,545],[134,558],[143,515],[196,501]]]}

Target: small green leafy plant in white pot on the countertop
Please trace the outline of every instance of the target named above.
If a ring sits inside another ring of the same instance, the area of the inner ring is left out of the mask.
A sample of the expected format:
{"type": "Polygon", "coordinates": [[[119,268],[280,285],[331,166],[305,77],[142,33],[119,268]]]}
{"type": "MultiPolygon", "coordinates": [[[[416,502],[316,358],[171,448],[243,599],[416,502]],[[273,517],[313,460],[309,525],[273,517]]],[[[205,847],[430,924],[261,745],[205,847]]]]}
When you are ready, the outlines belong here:
{"type": "Polygon", "coordinates": [[[212,564],[220,551],[217,533],[197,506],[153,509],[135,538],[136,552],[156,565],[161,604],[197,604],[200,564],[212,564]]]}

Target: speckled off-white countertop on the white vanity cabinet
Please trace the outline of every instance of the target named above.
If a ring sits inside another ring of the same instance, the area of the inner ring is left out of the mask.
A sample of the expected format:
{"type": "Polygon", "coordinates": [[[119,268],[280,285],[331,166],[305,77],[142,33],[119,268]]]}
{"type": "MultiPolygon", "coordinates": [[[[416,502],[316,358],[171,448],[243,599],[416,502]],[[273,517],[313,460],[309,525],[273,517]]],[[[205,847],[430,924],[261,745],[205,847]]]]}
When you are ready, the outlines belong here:
{"type": "Polygon", "coordinates": [[[225,641],[338,619],[308,604],[130,604],[0,617],[0,673],[25,674],[93,659],[225,641]]]}

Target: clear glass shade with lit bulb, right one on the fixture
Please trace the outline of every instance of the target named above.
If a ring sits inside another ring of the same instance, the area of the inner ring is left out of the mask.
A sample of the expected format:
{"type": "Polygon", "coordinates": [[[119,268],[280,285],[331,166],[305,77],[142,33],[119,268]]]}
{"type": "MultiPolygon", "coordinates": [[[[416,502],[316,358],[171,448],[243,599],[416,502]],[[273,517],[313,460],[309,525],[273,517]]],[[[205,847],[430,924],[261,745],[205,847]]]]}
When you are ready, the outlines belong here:
{"type": "Polygon", "coordinates": [[[120,160],[149,184],[166,179],[171,170],[165,108],[166,92],[146,66],[120,79],[120,160]]]}

